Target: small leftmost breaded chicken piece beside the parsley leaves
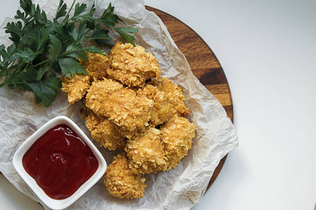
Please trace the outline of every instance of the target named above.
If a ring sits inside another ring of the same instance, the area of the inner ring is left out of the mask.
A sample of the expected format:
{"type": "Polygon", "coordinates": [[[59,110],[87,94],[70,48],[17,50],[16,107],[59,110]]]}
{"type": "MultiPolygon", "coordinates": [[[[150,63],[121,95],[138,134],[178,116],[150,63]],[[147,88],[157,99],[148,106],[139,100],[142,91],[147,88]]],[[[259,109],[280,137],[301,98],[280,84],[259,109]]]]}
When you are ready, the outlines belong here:
{"type": "Polygon", "coordinates": [[[61,76],[62,91],[67,93],[68,102],[78,102],[90,87],[90,77],[84,73],[77,73],[70,77],[61,76]]]}

